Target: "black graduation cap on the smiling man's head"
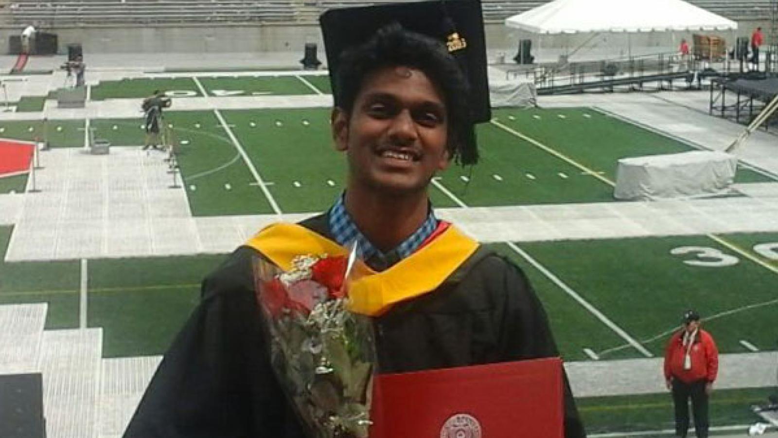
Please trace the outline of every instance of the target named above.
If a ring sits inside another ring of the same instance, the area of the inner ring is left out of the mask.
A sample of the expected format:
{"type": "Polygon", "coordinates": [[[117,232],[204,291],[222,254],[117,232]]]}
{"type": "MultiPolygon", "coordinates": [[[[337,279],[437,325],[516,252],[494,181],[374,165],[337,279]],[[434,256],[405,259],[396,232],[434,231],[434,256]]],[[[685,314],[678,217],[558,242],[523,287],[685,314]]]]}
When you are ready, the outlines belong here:
{"type": "Polygon", "coordinates": [[[381,27],[399,23],[406,30],[447,45],[470,83],[472,121],[488,122],[492,118],[481,0],[433,0],[329,9],[319,20],[335,105],[339,101],[335,72],[342,52],[370,40],[381,27]]]}

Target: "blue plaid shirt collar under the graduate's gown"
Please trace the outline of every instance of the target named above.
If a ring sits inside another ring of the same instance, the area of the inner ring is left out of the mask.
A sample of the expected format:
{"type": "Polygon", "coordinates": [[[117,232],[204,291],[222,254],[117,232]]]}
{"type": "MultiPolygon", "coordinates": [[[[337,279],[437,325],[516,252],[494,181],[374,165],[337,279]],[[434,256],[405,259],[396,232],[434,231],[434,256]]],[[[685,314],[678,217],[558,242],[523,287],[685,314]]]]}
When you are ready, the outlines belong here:
{"type": "Polygon", "coordinates": [[[362,260],[365,260],[365,263],[374,270],[385,270],[392,267],[394,263],[398,263],[405,257],[410,256],[416,249],[419,249],[422,242],[429,238],[430,235],[433,235],[438,225],[433,209],[429,208],[429,214],[427,214],[426,220],[418,230],[401,242],[397,248],[392,249],[388,253],[381,253],[380,249],[377,249],[375,245],[370,243],[362,232],[359,231],[359,228],[356,228],[351,215],[345,210],[343,195],[338,197],[337,202],[330,209],[329,222],[330,231],[333,237],[335,237],[335,241],[345,246],[356,240],[357,255],[362,260]]]}

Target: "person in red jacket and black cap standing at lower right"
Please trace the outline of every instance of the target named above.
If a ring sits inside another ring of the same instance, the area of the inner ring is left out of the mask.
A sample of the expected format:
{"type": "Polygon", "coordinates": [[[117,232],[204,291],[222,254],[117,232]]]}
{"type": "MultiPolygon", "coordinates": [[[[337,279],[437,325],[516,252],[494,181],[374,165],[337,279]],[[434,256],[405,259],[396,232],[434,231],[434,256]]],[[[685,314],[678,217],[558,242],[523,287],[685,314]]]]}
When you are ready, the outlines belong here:
{"type": "Polygon", "coordinates": [[[683,328],[670,337],[664,351],[664,380],[675,404],[675,434],[689,432],[689,398],[692,399],[696,436],[708,436],[708,397],[719,371],[719,351],[713,337],[699,327],[699,313],[689,310],[683,328]]]}

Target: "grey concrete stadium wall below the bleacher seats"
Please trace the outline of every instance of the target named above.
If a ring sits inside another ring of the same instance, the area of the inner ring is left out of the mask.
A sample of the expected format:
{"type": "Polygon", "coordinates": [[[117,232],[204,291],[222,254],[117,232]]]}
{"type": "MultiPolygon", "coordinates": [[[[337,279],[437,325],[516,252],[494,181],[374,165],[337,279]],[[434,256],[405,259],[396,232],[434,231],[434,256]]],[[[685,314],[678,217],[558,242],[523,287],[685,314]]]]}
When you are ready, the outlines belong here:
{"type": "MultiPolygon", "coordinates": [[[[769,22],[740,23],[738,36],[751,34],[753,28],[761,25],[769,34],[769,22]]],[[[316,25],[262,25],[262,26],[138,26],[138,27],[83,27],[47,29],[59,36],[60,50],[64,53],[67,44],[80,43],[85,53],[219,53],[219,52],[262,52],[299,51],[303,45],[315,42],[323,47],[321,31],[316,25]]],[[[0,29],[0,48],[7,51],[10,35],[19,34],[21,29],[0,29]]],[[[720,34],[727,39],[730,32],[720,34]]],[[[647,33],[632,34],[633,47],[675,48],[682,37],[689,34],[647,33]]],[[[587,35],[543,36],[531,35],[503,26],[502,23],[486,25],[486,38],[490,51],[515,51],[517,41],[531,38],[534,47],[560,49],[574,48],[588,38],[587,35]]],[[[609,34],[599,37],[594,44],[601,47],[621,47],[626,36],[609,34]]]]}

